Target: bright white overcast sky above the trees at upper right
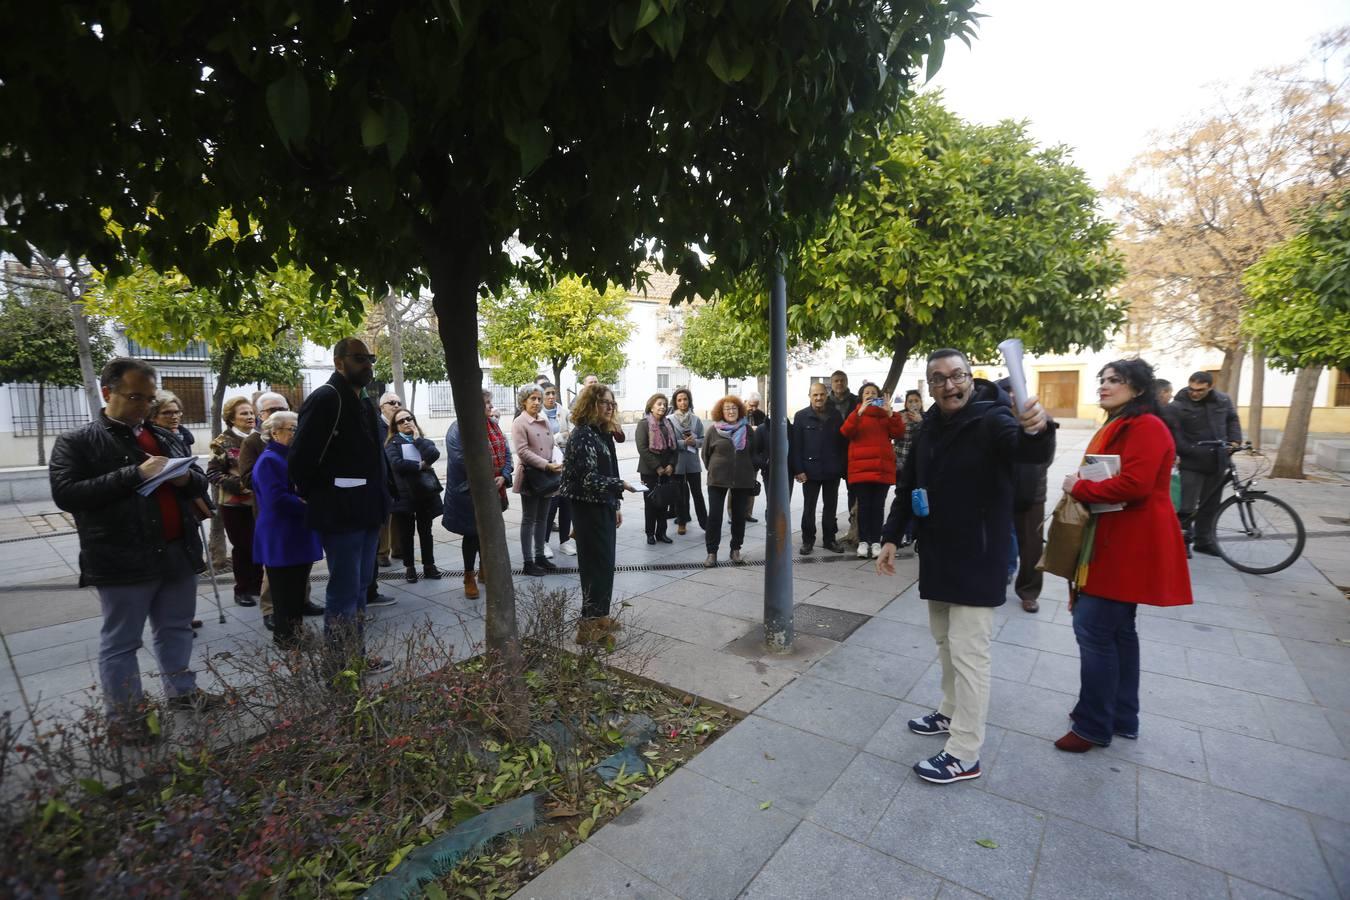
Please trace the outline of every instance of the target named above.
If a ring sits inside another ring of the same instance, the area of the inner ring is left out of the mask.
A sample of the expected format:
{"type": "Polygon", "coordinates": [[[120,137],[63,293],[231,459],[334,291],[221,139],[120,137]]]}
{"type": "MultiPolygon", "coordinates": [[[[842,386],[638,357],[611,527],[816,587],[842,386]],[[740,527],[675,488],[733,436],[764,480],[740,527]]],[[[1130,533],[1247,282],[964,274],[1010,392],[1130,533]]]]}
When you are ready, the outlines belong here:
{"type": "Polygon", "coordinates": [[[1346,0],[983,0],[973,49],[948,43],[933,86],[973,121],[1029,119],[1099,188],[1216,85],[1301,59],[1350,24],[1346,0]]]}

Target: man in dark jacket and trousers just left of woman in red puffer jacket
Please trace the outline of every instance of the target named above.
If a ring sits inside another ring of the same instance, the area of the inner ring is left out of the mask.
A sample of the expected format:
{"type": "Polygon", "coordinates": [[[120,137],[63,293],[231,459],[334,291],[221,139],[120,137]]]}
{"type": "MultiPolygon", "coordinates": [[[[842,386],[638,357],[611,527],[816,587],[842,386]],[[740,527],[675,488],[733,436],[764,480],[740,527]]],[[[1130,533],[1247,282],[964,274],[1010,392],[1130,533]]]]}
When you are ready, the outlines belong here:
{"type": "Polygon", "coordinates": [[[821,532],[825,549],[842,553],[838,544],[840,479],[844,476],[846,444],[840,434],[844,420],[830,406],[825,385],[811,385],[811,405],[792,417],[791,474],[802,484],[802,556],[815,546],[815,501],[825,498],[821,532]]]}

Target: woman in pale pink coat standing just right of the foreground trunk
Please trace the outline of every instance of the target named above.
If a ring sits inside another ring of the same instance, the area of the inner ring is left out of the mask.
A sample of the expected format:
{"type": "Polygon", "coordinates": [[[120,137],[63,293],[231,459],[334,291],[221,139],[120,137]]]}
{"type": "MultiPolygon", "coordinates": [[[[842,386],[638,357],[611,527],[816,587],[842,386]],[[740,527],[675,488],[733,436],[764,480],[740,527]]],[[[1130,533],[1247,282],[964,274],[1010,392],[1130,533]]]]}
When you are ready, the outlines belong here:
{"type": "Polygon", "coordinates": [[[548,505],[562,487],[563,464],[554,461],[554,432],[544,416],[544,391],[539,385],[521,389],[520,416],[510,424],[520,470],[512,490],[520,494],[520,548],[525,575],[547,575],[558,567],[544,556],[548,544],[548,505]]]}

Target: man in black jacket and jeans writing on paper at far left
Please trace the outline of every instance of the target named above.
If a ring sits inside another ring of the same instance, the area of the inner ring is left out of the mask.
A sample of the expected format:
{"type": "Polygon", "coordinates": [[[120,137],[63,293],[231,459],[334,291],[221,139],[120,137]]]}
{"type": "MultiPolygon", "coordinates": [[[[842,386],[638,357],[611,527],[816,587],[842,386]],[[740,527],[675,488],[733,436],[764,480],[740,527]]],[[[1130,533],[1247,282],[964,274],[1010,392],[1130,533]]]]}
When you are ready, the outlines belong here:
{"type": "Polygon", "coordinates": [[[100,376],[107,409],[58,437],[49,467],[51,499],[74,514],[80,533],[80,586],[97,588],[103,607],[104,704],[113,734],[132,742],[151,739],[136,661],[147,619],[170,708],[220,704],[197,688],[189,668],[197,575],[207,568],[196,518],[198,502],[205,509],[207,476],[189,463],[148,495],[138,493],[171,459],[188,456],[174,433],[146,424],[157,381],[148,363],[109,360],[100,376]]]}

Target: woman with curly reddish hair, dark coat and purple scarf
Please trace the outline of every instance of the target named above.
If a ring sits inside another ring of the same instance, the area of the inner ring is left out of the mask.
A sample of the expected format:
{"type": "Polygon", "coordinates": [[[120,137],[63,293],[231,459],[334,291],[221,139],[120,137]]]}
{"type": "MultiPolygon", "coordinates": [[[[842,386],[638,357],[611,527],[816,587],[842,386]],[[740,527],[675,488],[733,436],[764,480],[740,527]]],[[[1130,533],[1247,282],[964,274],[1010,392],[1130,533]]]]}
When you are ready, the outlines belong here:
{"type": "Polygon", "coordinates": [[[703,441],[703,466],[707,468],[707,529],[703,545],[707,559],[703,568],[717,565],[722,546],[722,509],[730,506],[732,563],[742,565],[741,544],[745,542],[745,517],[755,495],[760,459],[759,432],[745,418],[740,397],[724,397],[713,407],[713,428],[703,441]],[[728,494],[730,502],[728,503],[728,494]]]}

